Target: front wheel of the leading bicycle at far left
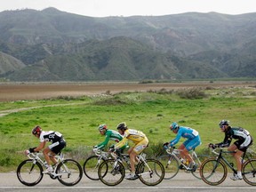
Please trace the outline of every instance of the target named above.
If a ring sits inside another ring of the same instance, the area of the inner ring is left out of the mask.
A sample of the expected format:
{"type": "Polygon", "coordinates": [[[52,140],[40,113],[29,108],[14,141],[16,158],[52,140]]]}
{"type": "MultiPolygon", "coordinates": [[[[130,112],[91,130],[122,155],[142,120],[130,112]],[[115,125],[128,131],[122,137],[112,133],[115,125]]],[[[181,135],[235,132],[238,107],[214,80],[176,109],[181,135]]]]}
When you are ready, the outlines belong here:
{"type": "Polygon", "coordinates": [[[17,177],[23,185],[35,186],[44,177],[43,167],[32,159],[24,160],[17,168],[17,177]]]}

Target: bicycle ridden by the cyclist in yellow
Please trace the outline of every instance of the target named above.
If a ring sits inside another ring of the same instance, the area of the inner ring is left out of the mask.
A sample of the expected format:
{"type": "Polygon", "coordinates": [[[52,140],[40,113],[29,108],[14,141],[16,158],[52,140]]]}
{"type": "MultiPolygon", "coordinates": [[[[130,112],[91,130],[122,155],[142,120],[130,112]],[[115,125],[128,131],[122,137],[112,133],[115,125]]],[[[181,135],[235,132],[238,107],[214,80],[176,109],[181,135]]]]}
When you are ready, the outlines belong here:
{"type": "MultiPolygon", "coordinates": [[[[124,180],[124,162],[126,162],[126,170],[131,171],[129,155],[116,153],[116,156],[113,156],[114,159],[102,162],[98,170],[101,182],[108,186],[116,186],[124,180]]],[[[135,168],[135,174],[142,183],[148,186],[156,186],[164,180],[164,166],[158,160],[146,159],[144,153],[136,158],[138,164],[135,168]]]]}

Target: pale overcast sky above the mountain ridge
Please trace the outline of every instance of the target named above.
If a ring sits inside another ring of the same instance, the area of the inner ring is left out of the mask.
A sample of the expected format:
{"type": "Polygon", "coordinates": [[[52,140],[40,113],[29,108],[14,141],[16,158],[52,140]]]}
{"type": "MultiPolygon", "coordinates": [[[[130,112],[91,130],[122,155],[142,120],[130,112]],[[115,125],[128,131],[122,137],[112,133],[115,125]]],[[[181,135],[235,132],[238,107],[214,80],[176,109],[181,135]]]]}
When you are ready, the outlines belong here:
{"type": "Polygon", "coordinates": [[[256,12],[256,0],[0,0],[0,12],[55,7],[92,17],[166,15],[183,12],[256,12]]]}

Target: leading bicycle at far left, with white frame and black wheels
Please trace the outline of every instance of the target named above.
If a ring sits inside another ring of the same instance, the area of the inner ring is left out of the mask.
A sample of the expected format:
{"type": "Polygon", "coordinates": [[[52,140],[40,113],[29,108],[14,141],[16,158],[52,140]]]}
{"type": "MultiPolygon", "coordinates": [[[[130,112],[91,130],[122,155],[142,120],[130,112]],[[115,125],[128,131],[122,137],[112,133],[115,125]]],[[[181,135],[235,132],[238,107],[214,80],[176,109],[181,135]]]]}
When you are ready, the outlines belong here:
{"type": "Polygon", "coordinates": [[[58,179],[65,186],[76,185],[83,177],[83,170],[80,164],[73,159],[65,159],[60,154],[56,157],[57,164],[53,165],[53,172],[43,173],[47,164],[40,156],[42,153],[28,153],[28,159],[22,161],[17,168],[17,177],[26,186],[35,186],[48,174],[52,180],[58,179]],[[44,168],[43,168],[44,167],[44,168]]]}

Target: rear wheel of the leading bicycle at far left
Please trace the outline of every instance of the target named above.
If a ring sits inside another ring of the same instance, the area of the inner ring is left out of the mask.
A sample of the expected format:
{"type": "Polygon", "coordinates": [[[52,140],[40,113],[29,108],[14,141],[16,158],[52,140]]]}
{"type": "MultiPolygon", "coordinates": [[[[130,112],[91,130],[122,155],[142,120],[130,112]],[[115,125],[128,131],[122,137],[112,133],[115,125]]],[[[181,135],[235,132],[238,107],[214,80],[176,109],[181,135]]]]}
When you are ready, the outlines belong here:
{"type": "Polygon", "coordinates": [[[83,177],[83,169],[74,159],[65,159],[60,162],[57,166],[56,173],[59,174],[57,179],[65,186],[74,186],[83,177]]]}

